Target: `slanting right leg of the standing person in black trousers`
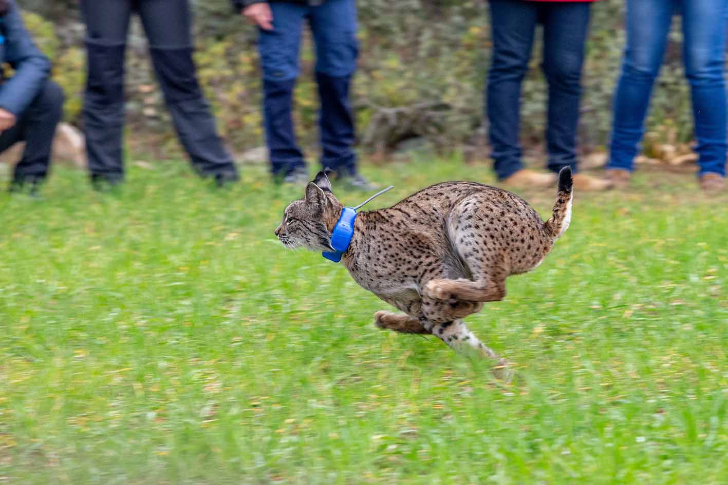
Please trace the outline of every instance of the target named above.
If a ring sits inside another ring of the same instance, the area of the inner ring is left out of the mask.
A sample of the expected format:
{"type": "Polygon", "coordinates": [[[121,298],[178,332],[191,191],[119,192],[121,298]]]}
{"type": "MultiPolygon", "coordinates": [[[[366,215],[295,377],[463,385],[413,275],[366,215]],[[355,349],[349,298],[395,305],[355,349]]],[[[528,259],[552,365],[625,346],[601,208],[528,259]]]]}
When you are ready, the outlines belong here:
{"type": "Polygon", "coordinates": [[[197,82],[189,1],[142,0],[139,15],[167,108],[192,166],[203,177],[215,177],[218,183],[237,180],[235,164],[197,82]]]}

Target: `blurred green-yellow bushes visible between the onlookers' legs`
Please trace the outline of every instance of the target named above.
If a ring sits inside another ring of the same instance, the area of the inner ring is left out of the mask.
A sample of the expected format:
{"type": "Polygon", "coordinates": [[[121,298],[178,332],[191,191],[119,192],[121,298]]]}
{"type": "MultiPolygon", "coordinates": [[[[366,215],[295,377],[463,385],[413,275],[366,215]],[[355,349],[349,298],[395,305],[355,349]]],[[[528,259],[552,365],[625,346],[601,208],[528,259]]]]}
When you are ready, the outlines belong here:
{"type": "MultiPolygon", "coordinates": [[[[228,0],[194,2],[199,78],[215,108],[223,135],[237,151],[263,143],[256,31],[234,15],[228,0]]],[[[359,1],[361,57],[354,89],[360,144],[384,153],[417,139],[438,151],[483,144],[483,88],[491,46],[487,5],[482,0],[359,1]]],[[[55,60],[55,79],[68,93],[66,119],[78,123],[84,82],[83,27],[76,1],[27,1],[42,15],[28,26],[55,60]],[[52,3],[52,4],[51,4],[52,3]]],[[[594,4],[585,65],[580,139],[587,149],[606,143],[610,105],[620,68],[622,1],[594,4]]],[[[678,23],[679,20],[676,20],[678,23]]],[[[662,76],[652,100],[649,127],[692,138],[689,92],[681,67],[681,33],[673,28],[662,76]]],[[[538,37],[537,37],[538,39],[538,37]]],[[[296,92],[299,138],[317,140],[314,53],[306,36],[296,92]]],[[[523,87],[522,129],[529,144],[543,139],[546,87],[540,71],[540,40],[523,87]]],[[[138,23],[130,35],[128,115],[134,140],[167,148],[173,140],[162,96],[147,59],[138,23]]]]}

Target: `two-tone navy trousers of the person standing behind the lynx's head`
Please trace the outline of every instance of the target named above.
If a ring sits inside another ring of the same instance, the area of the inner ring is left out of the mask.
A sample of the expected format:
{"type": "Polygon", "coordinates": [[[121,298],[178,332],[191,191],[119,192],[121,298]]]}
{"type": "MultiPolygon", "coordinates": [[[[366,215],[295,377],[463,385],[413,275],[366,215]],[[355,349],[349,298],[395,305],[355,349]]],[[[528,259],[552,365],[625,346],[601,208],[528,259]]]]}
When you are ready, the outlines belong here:
{"type": "Polygon", "coordinates": [[[317,6],[271,2],[272,31],[261,29],[258,47],[264,84],[264,116],[272,172],[305,167],[293,129],[293,88],[298,78],[301,33],[308,21],[316,44],[316,81],[321,102],[321,165],[345,173],[356,169],[354,116],[349,86],[356,69],[355,0],[327,0],[317,6]]]}

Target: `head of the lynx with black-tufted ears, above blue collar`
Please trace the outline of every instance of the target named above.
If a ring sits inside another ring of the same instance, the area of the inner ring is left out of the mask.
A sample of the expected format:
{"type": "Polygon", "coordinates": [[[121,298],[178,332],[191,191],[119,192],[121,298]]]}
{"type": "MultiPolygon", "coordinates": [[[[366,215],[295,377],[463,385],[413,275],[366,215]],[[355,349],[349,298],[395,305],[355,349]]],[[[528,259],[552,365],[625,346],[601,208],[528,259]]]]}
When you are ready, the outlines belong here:
{"type": "Polygon", "coordinates": [[[293,201],[285,208],[283,222],[275,235],[288,249],[331,251],[331,231],[339,220],[341,208],[325,172],[319,172],[306,185],[304,199],[293,201]]]}

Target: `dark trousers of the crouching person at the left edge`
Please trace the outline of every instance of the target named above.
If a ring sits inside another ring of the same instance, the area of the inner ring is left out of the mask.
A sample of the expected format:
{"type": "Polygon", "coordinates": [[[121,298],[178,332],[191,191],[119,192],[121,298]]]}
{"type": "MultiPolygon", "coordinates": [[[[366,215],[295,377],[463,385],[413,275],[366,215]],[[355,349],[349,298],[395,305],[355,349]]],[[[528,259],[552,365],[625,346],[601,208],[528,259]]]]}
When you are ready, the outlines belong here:
{"type": "Polygon", "coordinates": [[[23,157],[15,165],[13,183],[40,183],[48,175],[55,129],[63,114],[63,90],[47,81],[30,106],[17,117],[14,127],[0,135],[0,152],[24,141],[23,157]]]}

